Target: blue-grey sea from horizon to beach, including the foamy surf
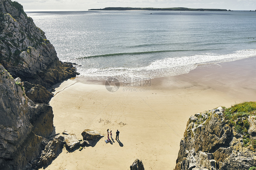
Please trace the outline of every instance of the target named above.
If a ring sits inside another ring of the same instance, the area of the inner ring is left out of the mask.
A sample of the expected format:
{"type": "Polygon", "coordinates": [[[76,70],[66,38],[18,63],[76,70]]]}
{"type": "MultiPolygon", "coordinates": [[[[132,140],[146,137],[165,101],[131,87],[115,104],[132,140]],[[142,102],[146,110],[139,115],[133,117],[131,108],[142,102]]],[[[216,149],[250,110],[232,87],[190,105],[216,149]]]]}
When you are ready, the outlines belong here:
{"type": "Polygon", "coordinates": [[[27,15],[46,33],[61,61],[82,65],[77,67],[78,72],[95,80],[174,76],[188,73],[198,64],[256,55],[256,12],[83,11],[27,15]]]}

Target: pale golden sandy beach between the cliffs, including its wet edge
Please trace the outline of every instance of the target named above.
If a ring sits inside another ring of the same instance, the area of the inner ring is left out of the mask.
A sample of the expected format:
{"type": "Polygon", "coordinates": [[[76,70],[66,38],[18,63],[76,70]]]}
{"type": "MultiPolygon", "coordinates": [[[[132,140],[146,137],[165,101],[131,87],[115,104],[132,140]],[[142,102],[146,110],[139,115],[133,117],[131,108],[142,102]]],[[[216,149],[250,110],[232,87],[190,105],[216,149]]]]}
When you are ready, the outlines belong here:
{"type": "Polygon", "coordinates": [[[256,101],[255,63],[252,57],[201,65],[188,74],[152,79],[149,87],[121,84],[116,92],[82,77],[61,83],[50,101],[56,133],[67,130],[82,139],[84,129],[93,129],[105,136],[82,151],[64,148],[44,169],[127,170],[136,158],[145,169],[173,169],[191,115],[256,101]],[[107,129],[113,142],[106,144],[107,129]],[[120,142],[115,140],[117,129],[120,142]]]}

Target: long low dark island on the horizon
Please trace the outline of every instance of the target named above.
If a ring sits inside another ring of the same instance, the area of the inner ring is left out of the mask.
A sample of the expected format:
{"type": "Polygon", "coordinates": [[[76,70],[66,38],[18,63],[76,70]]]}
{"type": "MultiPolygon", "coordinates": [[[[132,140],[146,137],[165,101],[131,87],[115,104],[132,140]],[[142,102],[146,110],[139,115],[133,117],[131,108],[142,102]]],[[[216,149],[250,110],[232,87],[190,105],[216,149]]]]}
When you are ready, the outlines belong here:
{"type": "Polygon", "coordinates": [[[126,11],[126,10],[149,10],[149,11],[227,11],[227,9],[205,9],[205,8],[132,8],[132,7],[107,7],[103,9],[88,9],[91,11],[101,10],[101,11],[126,11]]]}

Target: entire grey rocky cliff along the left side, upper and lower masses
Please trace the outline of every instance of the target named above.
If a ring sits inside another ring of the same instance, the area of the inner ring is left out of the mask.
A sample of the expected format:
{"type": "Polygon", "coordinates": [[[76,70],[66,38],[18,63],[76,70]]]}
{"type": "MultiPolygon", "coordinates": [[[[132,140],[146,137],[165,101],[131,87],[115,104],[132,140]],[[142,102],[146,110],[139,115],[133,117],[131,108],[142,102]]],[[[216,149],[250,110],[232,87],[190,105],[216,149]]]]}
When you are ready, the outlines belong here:
{"type": "Polygon", "coordinates": [[[49,138],[53,95],[46,88],[77,74],[21,4],[0,0],[0,169],[36,169],[57,156],[63,141],[49,138]]]}

